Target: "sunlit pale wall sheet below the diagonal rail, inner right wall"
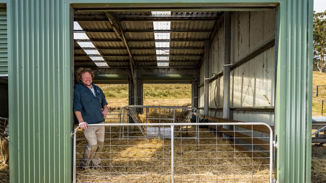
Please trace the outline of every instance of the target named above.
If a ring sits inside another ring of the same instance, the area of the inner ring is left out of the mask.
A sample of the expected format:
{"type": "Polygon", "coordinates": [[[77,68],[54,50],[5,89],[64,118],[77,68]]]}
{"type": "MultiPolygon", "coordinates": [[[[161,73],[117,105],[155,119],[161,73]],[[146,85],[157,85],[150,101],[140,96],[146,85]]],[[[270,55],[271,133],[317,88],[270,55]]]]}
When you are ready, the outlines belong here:
{"type": "Polygon", "coordinates": [[[231,71],[231,106],[274,106],[274,46],[231,71]]]}

